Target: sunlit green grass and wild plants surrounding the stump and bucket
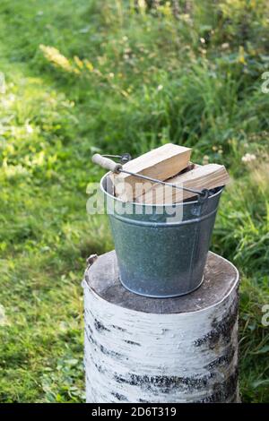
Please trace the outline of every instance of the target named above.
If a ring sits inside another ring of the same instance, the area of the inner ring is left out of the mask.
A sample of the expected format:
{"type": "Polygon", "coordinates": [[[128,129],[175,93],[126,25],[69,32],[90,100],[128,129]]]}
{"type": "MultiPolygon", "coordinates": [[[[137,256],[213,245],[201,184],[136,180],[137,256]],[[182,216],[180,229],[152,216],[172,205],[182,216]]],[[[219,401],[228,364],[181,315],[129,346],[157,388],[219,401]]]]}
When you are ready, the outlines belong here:
{"type": "Polygon", "coordinates": [[[90,157],[164,142],[230,171],[212,250],[241,274],[241,398],[269,401],[266,3],[1,1],[0,402],[84,400],[85,258],[113,247],[90,157]]]}

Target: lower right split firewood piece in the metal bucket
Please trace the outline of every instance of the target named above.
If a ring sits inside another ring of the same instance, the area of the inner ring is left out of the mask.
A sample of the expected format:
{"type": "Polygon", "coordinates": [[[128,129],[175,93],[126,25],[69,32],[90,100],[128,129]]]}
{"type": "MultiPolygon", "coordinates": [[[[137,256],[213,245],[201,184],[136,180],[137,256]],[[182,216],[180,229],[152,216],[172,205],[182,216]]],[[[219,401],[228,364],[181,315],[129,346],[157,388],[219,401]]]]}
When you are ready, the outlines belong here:
{"type": "MultiPolygon", "coordinates": [[[[204,166],[195,165],[194,169],[187,171],[182,175],[169,178],[166,181],[175,185],[202,190],[203,188],[213,189],[221,185],[227,185],[230,181],[230,177],[223,165],[207,164],[204,166]]],[[[169,204],[182,202],[190,197],[195,197],[195,194],[156,184],[150,191],[138,197],[136,202],[169,204]]]]}

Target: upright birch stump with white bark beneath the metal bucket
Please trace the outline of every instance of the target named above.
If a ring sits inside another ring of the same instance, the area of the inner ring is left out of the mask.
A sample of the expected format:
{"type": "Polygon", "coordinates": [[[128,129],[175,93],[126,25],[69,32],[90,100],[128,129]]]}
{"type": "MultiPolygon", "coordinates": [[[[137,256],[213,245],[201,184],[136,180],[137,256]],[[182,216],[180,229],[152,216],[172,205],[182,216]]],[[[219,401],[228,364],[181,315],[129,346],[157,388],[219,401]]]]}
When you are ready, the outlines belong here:
{"type": "Polygon", "coordinates": [[[238,402],[239,273],[208,253],[187,296],[137,296],[115,252],[85,272],[87,402],[238,402]]]}

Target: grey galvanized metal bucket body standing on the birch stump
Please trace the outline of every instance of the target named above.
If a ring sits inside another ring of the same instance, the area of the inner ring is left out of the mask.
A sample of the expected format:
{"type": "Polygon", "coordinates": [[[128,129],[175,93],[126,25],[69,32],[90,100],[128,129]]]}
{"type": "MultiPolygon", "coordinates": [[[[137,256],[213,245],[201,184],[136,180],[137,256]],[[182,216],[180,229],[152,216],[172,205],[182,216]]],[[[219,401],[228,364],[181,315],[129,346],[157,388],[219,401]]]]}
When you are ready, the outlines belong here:
{"type": "Polygon", "coordinates": [[[202,203],[145,205],[118,200],[109,193],[107,177],[100,185],[124,287],[160,298],[182,296],[198,288],[223,188],[215,189],[202,203]]]}

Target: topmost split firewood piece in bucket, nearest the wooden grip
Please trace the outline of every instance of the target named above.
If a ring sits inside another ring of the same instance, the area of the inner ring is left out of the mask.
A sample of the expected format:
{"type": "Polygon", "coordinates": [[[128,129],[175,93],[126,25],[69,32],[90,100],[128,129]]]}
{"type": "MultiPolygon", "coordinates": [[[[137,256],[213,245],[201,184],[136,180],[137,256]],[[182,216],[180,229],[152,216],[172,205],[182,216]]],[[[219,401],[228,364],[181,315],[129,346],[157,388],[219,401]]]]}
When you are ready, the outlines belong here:
{"type": "MultiPolygon", "coordinates": [[[[132,159],[123,168],[132,173],[163,181],[187,168],[190,155],[191,149],[167,143],[132,159]]],[[[152,188],[151,182],[125,173],[112,174],[111,179],[115,185],[116,196],[125,202],[133,201],[135,197],[152,188]]]]}

